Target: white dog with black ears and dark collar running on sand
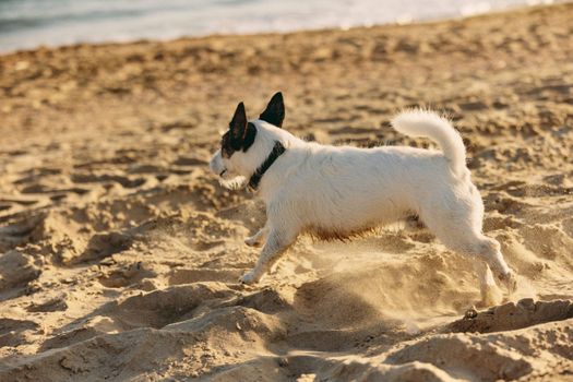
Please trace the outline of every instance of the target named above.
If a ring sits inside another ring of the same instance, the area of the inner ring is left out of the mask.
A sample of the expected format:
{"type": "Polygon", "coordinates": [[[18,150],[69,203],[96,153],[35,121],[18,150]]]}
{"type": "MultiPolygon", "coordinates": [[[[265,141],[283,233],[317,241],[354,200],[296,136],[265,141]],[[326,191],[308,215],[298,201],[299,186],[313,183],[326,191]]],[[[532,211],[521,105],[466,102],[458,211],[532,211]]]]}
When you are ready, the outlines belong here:
{"type": "Polygon", "coordinates": [[[462,138],[447,120],[419,110],[392,120],[401,133],[437,142],[441,151],[432,151],[306,142],[280,129],[284,118],[280,93],[251,121],[240,103],[210,163],[223,186],[249,184],[266,205],[266,224],[246,240],[264,247],[242,283],[259,282],[302,232],[347,238],[418,215],[446,247],[481,264],[482,294],[492,284],[488,265],[510,290],[515,287],[499,242],[482,234],[484,204],[462,138]]]}

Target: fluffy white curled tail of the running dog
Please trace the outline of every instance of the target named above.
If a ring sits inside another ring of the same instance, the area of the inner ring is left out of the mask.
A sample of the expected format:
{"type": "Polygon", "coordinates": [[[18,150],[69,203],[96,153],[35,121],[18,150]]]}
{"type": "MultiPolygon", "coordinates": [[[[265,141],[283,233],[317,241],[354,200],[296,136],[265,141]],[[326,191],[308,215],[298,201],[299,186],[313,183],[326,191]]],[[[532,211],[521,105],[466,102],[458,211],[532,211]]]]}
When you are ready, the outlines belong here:
{"type": "Polygon", "coordinates": [[[408,110],[392,119],[392,127],[409,136],[429,138],[440,145],[456,175],[466,171],[466,148],[462,136],[445,118],[426,110],[408,110]]]}

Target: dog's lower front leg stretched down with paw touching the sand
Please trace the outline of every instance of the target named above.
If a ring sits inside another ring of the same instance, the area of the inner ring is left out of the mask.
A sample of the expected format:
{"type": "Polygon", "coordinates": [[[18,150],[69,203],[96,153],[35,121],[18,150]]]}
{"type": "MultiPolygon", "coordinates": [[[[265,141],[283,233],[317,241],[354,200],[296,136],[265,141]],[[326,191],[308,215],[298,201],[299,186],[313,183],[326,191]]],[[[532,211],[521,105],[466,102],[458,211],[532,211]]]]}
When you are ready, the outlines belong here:
{"type": "Polygon", "coordinates": [[[296,234],[279,232],[270,229],[268,238],[256,261],[256,265],[239,279],[243,284],[258,283],[297,238],[296,234]]]}

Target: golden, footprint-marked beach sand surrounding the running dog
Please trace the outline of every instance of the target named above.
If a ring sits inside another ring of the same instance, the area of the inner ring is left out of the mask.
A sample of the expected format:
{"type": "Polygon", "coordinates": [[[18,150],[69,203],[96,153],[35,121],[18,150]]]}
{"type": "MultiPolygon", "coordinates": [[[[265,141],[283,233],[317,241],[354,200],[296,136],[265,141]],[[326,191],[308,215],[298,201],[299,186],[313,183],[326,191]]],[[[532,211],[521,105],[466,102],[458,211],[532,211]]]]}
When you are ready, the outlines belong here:
{"type": "Polygon", "coordinates": [[[432,24],[0,57],[0,381],[573,380],[573,4],[432,24]],[[275,91],[323,143],[427,146],[447,114],[518,290],[480,305],[423,227],[301,238],[242,286],[264,222],[207,162],[275,91]]]}

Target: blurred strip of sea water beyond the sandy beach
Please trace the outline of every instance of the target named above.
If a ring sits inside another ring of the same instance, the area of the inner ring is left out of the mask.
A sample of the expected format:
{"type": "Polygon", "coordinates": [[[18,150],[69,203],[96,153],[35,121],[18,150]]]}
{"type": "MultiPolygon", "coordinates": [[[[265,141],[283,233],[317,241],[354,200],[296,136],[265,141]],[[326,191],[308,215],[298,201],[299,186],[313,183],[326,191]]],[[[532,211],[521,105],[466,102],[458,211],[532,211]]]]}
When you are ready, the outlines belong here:
{"type": "Polygon", "coordinates": [[[0,0],[0,51],[368,26],[467,16],[552,0],[0,0]]]}

